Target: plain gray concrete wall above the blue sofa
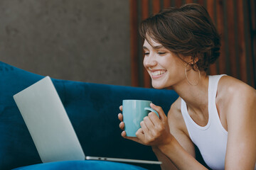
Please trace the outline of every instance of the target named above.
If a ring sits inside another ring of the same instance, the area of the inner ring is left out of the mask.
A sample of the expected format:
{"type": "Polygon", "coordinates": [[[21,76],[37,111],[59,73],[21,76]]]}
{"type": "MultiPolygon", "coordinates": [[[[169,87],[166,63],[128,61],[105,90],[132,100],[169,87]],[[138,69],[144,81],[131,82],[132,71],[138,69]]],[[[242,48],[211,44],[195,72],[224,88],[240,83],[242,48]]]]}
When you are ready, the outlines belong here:
{"type": "Polygon", "coordinates": [[[0,60],[56,79],[131,85],[129,1],[1,0],[0,60]]]}

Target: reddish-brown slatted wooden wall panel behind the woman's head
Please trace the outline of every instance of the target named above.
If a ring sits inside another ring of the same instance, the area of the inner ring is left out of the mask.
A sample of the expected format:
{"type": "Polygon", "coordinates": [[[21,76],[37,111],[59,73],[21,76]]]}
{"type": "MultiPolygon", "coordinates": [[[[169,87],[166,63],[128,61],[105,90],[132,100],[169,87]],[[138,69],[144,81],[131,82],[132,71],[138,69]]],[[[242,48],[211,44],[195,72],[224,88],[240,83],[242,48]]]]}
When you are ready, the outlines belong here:
{"type": "Polygon", "coordinates": [[[142,45],[138,37],[139,23],[161,8],[188,3],[205,6],[221,35],[220,58],[210,65],[208,74],[228,74],[255,87],[255,0],[130,0],[132,86],[151,87],[148,73],[140,66],[143,52],[138,47],[142,45]]]}

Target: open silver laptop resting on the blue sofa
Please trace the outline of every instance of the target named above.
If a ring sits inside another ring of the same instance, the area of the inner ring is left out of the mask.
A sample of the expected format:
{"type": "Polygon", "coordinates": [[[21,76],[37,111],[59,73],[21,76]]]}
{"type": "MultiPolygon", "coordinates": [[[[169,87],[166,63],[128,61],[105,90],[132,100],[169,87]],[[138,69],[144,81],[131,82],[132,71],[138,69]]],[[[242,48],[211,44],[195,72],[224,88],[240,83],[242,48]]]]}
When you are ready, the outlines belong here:
{"type": "Polygon", "coordinates": [[[161,162],[85,156],[75,130],[50,77],[14,95],[43,163],[68,160],[105,160],[140,164],[161,162]]]}

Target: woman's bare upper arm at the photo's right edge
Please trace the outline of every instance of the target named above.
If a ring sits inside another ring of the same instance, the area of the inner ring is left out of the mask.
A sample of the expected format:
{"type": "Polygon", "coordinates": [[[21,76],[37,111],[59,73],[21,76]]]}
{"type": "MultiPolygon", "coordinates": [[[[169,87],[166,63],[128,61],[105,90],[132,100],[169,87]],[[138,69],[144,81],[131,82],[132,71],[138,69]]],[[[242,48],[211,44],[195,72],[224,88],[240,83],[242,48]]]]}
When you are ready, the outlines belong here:
{"type": "Polygon", "coordinates": [[[225,89],[228,144],[225,169],[254,169],[256,161],[256,91],[245,84],[225,89]]]}

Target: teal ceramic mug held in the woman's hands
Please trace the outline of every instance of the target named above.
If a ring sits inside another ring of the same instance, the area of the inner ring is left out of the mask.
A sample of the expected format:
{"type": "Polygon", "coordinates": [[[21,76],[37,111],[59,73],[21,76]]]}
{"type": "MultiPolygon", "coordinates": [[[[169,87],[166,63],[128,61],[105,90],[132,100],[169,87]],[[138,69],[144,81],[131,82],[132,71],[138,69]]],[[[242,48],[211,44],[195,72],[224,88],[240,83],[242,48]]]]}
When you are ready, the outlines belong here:
{"type": "Polygon", "coordinates": [[[140,123],[143,118],[150,112],[159,114],[150,107],[151,101],[142,100],[123,100],[122,101],[122,114],[124,121],[124,131],[128,137],[136,137],[136,132],[141,128],[140,123]]]}

